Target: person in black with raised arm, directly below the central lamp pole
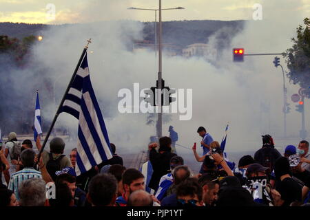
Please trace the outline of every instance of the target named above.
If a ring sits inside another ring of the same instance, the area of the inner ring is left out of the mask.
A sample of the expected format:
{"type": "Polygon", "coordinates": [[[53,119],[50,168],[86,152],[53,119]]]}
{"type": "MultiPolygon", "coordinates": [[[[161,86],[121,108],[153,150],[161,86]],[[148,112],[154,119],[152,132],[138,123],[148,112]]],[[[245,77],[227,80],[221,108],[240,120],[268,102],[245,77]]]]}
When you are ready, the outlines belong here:
{"type": "Polygon", "coordinates": [[[176,154],[171,153],[171,138],[161,137],[159,139],[159,149],[156,151],[157,144],[149,144],[149,160],[152,163],[153,174],[149,180],[149,188],[157,190],[159,181],[163,175],[169,173],[170,169],[170,159],[176,154]]]}

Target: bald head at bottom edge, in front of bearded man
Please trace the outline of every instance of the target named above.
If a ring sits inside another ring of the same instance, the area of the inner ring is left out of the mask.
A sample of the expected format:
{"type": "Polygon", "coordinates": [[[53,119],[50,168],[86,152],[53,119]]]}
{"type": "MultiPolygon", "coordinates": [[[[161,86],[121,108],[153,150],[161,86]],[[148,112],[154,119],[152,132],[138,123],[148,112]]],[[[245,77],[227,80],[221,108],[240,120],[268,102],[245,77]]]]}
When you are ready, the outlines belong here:
{"type": "Polygon", "coordinates": [[[145,190],[136,190],[130,194],[127,206],[153,206],[153,199],[145,190]]]}

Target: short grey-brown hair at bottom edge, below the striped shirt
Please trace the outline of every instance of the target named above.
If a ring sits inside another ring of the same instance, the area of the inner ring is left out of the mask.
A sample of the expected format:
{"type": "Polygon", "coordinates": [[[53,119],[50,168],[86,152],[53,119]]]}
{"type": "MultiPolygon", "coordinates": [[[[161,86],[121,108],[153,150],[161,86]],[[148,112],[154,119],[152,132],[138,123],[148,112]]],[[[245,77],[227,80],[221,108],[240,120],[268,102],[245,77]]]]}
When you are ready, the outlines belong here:
{"type": "Polygon", "coordinates": [[[40,178],[31,178],[21,182],[19,186],[21,206],[44,206],[46,200],[45,181],[40,178]]]}

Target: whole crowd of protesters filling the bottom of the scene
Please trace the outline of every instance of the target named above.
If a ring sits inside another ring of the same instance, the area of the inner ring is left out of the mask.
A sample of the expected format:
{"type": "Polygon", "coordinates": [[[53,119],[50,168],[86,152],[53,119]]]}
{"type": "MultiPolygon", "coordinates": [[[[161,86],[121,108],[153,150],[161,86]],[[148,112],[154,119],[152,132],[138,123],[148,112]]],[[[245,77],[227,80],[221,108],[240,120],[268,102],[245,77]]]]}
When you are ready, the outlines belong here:
{"type": "Polygon", "coordinates": [[[123,166],[114,144],[112,159],[76,176],[77,149],[64,155],[60,137],[38,158],[39,137],[34,149],[32,141],[20,144],[17,134],[10,133],[0,148],[0,206],[309,206],[306,140],[298,147],[287,146],[281,155],[271,135],[263,135],[254,157],[243,155],[236,166],[203,126],[197,133],[203,138],[203,155],[198,155],[196,143],[192,151],[193,159],[201,162],[199,173],[172,149],[172,138],[161,137],[148,146],[153,169],[148,183],[140,170],[123,166]],[[49,197],[53,187],[54,196],[49,197]]]}

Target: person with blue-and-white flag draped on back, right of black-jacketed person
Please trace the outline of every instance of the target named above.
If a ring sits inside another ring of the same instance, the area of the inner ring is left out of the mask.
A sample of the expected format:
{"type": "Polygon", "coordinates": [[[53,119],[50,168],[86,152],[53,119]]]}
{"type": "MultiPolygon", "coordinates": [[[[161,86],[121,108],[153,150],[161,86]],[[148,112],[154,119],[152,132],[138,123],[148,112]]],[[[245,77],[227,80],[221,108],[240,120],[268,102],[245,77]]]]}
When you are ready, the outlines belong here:
{"type": "Polygon", "coordinates": [[[174,168],[181,165],[184,165],[184,160],[182,157],[174,156],[170,159],[170,173],[161,177],[161,180],[159,181],[159,187],[155,195],[159,201],[161,201],[163,197],[167,196],[167,190],[174,183],[174,176],[172,175],[174,168]]]}

